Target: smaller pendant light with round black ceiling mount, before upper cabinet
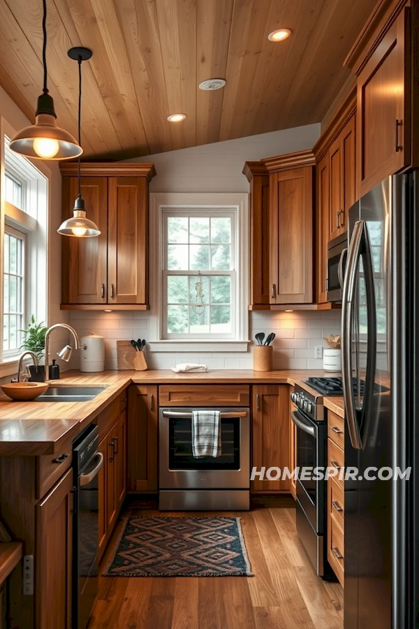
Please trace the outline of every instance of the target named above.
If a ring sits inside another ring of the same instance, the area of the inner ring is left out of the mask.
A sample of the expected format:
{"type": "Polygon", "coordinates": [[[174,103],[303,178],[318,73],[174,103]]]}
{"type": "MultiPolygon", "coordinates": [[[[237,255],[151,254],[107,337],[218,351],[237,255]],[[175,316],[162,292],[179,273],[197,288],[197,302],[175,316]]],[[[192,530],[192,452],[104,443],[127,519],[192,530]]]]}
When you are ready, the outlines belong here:
{"type": "MultiPolygon", "coordinates": [[[[82,61],[87,61],[93,54],[89,48],[75,46],[68,50],[68,57],[78,62],[79,70],[79,102],[78,102],[78,141],[81,144],[80,117],[82,112],[82,61]]],[[[78,156],[78,198],[76,198],[73,209],[73,217],[64,221],[57,230],[62,236],[75,236],[76,238],[91,238],[99,236],[101,231],[93,221],[86,218],[84,209],[84,199],[82,198],[82,187],[80,180],[80,155],[78,156]]]]}

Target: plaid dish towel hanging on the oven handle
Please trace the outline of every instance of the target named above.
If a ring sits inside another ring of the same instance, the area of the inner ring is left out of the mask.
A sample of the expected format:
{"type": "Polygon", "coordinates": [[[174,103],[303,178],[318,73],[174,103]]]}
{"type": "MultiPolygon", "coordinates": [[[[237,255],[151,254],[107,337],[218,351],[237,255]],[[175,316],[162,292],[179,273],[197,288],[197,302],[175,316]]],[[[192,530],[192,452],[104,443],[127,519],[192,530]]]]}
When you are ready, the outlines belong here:
{"type": "Polygon", "coordinates": [[[205,410],[192,411],[192,456],[220,456],[221,413],[205,410]]]}

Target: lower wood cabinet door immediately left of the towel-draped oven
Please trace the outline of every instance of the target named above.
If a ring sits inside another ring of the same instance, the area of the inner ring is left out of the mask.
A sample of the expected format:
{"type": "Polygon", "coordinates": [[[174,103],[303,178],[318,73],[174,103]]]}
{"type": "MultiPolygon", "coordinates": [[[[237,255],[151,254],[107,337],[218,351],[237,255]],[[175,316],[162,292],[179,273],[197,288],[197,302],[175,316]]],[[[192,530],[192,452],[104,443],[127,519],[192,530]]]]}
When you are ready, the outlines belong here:
{"type": "Polygon", "coordinates": [[[158,399],[156,386],[133,385],[128,393],[128,490],[156,491],[158,399]]]}

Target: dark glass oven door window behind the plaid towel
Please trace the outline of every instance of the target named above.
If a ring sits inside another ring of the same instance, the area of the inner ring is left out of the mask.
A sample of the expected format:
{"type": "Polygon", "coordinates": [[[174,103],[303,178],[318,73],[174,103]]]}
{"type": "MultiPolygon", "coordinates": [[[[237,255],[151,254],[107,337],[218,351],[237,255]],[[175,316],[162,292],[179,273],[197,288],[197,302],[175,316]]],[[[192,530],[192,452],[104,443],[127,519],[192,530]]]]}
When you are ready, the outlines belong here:
{"type": "Polygon", "coordinates": [[[169,420],[170,470],[240,470],[240,421],[221,419],[221,455],[192,456],[192,420],[169,420]]]}

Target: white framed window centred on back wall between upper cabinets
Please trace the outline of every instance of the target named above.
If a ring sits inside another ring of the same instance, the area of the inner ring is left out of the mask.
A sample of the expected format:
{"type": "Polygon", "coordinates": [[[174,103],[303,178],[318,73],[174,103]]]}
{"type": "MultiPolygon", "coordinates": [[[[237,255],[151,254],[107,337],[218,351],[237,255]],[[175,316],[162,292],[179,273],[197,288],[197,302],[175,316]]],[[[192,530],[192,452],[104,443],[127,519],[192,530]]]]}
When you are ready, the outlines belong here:
{"type": "Polygon", "coordinates": [[[247,194],[152,193],[154,352],[237,352],[249,343],[247,194]]]}

